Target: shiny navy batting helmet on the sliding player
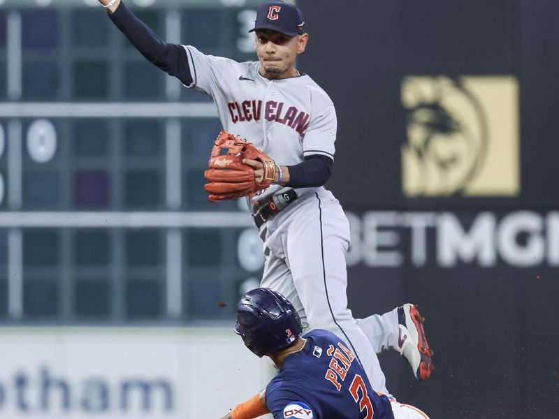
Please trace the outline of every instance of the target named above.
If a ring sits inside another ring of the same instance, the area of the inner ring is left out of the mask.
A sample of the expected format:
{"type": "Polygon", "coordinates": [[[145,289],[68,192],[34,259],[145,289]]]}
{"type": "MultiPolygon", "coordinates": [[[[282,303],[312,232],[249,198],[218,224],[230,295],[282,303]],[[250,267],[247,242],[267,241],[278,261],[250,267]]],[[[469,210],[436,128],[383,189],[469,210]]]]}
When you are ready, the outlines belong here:
{"type": "Polygon", "coordinates": [[[302,332],[293,304],[277,291],[256,288],[237,303],[235,333],[259,358],[291,346],[302,332]]]}

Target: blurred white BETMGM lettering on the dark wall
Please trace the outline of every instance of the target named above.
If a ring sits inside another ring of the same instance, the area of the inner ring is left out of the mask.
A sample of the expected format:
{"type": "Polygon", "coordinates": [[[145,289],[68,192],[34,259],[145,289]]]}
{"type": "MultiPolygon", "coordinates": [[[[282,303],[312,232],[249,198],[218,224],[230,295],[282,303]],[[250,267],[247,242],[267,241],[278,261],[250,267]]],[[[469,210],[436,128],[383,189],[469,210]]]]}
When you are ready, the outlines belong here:
{"type": "Polygon", "coordinates": [[[346,213],[349,266],[559,266],[559,212],[346,213]]]}

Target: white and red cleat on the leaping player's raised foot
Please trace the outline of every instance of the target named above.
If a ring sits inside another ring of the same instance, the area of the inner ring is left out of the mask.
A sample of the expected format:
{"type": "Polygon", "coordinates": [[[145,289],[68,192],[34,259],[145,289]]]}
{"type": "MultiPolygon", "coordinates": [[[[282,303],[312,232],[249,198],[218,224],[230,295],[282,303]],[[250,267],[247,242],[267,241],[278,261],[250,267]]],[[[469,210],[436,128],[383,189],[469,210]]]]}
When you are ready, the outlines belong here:
{"type": "Polygon", "coordinates": [[[433,351],[429,348],[423,322],[425,318],[419,314],[414,304],[398,307],[398,346],[400,355],[404,355],[412,366],[418,380],[426,380],[435,369],[432,363],[433,351]]]}

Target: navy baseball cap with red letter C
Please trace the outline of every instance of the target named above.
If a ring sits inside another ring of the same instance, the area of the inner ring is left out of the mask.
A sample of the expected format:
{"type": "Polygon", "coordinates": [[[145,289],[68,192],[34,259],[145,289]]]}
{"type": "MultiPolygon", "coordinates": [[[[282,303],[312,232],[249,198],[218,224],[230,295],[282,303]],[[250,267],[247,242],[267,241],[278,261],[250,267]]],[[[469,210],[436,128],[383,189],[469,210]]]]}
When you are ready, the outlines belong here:
{"type": "Polygon", "coordinates": [[[303,13],[291,3],[269,1],[263,3],[256,13],[256,24],[249,32],[271,29],[288,36],[303,34],[303,13]]]}

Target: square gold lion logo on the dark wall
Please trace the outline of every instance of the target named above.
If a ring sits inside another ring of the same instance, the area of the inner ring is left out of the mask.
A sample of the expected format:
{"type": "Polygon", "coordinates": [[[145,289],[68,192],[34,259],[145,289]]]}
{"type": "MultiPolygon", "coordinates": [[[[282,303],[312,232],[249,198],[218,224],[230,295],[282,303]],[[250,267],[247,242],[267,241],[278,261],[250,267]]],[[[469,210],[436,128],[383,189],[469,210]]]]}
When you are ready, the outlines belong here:
{"type": "Polygon", "coordinates": [[[405,78],[405,195],[516,195],[517,89],[511,78],[405,78]]]}

